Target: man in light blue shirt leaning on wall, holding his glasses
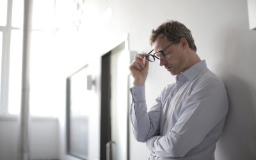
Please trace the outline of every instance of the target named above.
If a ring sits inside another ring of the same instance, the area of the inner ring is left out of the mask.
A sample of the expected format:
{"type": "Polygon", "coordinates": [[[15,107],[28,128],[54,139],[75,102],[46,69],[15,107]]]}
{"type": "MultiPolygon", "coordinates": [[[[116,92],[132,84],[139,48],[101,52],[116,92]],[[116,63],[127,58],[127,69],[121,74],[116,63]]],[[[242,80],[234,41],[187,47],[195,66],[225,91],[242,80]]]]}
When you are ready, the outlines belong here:
{"type": "Polygon", "coordinates": [[[152,30],[148,54],[130,65],[131,123],[136,140],[146,142],[149,159],[211,160],[228,112],[224,84],[200,60],[191,31],[177,21],[152,30]],[[176,83],[163,89],[152,108],[145,101],[149,61],[160,61],[176,83]]]}

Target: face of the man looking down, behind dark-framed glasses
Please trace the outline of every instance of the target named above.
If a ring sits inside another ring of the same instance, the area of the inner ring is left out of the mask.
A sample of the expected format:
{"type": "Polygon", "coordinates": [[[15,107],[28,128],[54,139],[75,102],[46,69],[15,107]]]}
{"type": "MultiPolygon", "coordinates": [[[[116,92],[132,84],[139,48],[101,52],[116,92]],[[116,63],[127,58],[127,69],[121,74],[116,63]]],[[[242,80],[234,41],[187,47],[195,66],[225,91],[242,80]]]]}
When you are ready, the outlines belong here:
{"type": "MultiPolygon", "coordinates": [[[[164,36],[158,36],[153,44],[154,51],[162,51],[171,42],[164,36]]],[[[164,50],[165,58],[160,60],[160,65],[164,66],[173,76],[184,72],[187,67],[186,55],[182,43],[172,44],[164,50]]]]}

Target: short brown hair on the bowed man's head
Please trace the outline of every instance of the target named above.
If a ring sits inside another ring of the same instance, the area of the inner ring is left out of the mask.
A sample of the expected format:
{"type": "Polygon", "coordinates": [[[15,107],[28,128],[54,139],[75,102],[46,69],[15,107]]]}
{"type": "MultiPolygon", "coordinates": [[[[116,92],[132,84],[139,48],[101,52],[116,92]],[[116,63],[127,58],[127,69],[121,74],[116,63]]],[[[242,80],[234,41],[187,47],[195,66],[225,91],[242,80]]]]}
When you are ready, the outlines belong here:
{"type": "Polygon", "coordinates": [[[152,45],[157,36],[163,34],[170,42],[173,44],[179,44],[181,38],[186,38],[188,41],[189,47],[196,51],[195,41],[191,35],[191,31],[184,26],[184,24],[175,21],[168,20],[161,24],[156,30],[152,29],[152,33],[150,35],[150,44],[152,45]]]}

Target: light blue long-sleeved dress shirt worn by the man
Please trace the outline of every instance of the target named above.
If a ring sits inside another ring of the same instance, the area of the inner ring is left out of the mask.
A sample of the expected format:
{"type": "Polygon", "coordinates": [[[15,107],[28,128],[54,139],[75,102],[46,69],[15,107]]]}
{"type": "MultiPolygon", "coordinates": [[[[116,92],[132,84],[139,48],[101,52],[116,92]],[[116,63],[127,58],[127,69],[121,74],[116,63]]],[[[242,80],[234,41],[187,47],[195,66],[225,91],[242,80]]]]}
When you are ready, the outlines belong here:
{"type": "Polygon", "coordinates": [[[228,112],[223,82],[200,61],[176,76],[152,108],[145,86],[130,89],[132,130],[151,159],[212,160],[228,112]]]}

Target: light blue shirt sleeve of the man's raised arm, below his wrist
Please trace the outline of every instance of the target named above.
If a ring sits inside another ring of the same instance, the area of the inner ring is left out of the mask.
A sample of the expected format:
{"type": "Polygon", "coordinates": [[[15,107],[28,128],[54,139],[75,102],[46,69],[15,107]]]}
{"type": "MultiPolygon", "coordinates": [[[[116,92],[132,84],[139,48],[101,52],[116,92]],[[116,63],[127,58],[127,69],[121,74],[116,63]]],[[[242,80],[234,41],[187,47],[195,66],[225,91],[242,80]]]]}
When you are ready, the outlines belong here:
{"type": "Polygon", "coordinates": [[[159,134],[161,98],[157,97],[154,106],[150,108],[150,111],[147,111],[145,86],[133,87],[130,92],[132,103],[129,115],[132,131],[136,140],[145,142],[148,138],[159,134]]]}

